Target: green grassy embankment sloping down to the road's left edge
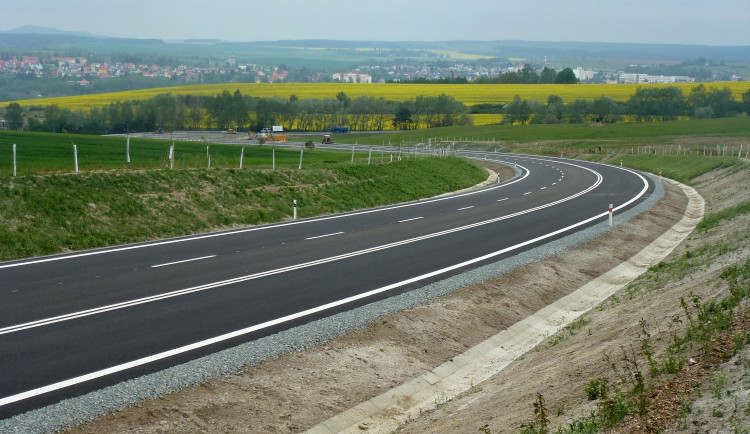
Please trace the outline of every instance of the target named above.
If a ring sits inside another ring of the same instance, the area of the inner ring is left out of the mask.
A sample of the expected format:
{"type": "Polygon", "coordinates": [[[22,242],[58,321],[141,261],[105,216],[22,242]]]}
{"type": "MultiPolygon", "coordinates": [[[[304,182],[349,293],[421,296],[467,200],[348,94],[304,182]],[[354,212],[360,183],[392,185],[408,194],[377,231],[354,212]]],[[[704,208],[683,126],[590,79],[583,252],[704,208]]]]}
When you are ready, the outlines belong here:
{"type": "Polygon", "coordinates": [[[459,158],[0,175],[0,260],[278,222],[291,217],[294,199],[298,215],[310,217],[434,196],[485,178],[459,158]]]}

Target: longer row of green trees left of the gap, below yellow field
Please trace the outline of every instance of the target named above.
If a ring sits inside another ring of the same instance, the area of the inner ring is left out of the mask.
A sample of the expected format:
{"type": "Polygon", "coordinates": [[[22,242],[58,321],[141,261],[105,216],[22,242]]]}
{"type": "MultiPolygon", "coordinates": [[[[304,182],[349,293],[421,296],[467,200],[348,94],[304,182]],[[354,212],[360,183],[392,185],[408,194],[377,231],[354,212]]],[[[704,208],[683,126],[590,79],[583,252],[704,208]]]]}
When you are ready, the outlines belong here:
{"type": "Polygon", "coordinates": [[[455,97],[417,96],[406,101],[382,97],[255,98],[223,91],[214,96],[159,94],[144,101],[116,102],[73,111],[56,105],[6,107],[8,127],[31,131],[120,134],[131,131],[226,130],[260,131],[272,125],[287,130],[324,131],[346,126],[359,131],[471,125],[469,108],[455,97]],[[26,119],[26,123],[24,123],[26,119]]]}

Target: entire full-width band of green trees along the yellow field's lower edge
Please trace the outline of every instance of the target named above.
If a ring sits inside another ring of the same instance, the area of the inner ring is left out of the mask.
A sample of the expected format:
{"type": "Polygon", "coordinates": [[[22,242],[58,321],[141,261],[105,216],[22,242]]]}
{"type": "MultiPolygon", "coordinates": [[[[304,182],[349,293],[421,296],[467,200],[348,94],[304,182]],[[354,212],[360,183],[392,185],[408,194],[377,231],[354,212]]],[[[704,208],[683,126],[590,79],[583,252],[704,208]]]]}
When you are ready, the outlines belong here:
{"type": "MultiPolygon", "coordinates": [[[[741,101],[730,88],[699,85],[688,95],[674,86],[642,87],[627,101],[609,97],[564,103],[557,95],[546,101],[515,96],[507,104],[482,104],[471,113],[502,114],[504,124],[587,123],[674,120],[680,117],[716,118],[750,114],[750,90],[741,101]]],[[[160,94],[144,101],[125,101],[86,111],[55,105],[24,109],[11,103],[5,109],[8,128],[82,134],[135,131],[216,130],[259,131],[272,125],[287,130],[324,131],[346,126],[358,131],[417,129],[471,125],[470,109],[455,97],[417,96],[406,101],[382,97],[255,98],[224,91],[214,96],[160,94]]]]}

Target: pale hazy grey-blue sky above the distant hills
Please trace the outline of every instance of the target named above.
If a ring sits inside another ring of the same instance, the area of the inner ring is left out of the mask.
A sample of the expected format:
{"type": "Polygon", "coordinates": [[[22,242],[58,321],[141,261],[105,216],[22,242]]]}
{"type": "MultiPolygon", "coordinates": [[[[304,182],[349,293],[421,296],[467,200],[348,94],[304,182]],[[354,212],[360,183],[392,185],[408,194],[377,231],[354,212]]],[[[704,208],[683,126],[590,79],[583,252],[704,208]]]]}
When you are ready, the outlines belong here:
{"type": "Polygon", "coordinates": [[[0,31],[259,41],[750,45],[750,0],[0,0],[0,31]]]}

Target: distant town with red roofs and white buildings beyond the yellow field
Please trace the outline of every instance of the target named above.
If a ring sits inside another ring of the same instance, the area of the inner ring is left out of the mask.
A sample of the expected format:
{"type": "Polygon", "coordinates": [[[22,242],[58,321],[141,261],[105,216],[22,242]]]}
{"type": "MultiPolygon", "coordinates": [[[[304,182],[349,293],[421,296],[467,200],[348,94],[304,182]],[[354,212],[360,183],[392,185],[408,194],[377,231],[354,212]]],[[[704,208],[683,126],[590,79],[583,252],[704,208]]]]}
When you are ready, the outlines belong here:
{"type": "MultiPolygon", "coordinates": [[[[63,78],[75,82],[80,86],[91,84],[92,80],[104,80],[126,76],[140,76],[146,78],[183,79],[186,82],[200,83],[206,79],[216,81],[221,77],[235,77],[235,81],[257,83],[279,82],[350,82],[350,83],[385,83],[389,81],[402,82],[414,80],[441,80],[450,78],[465,78],[472,82],[482,77],[498,77],[508,72],[520,72],[524,64],[500,66],[477,64],[475,62],[453,63],[424,62],[392,63],[379,65],[362,65],[351,71],[342,72],[314,72],[300,77],[291,76],[289,71],[278,66],[257,64],[241,64],[235,59],[213,62],[207,67],[186,65],[147,65],[120,62],[92,62],[86,57],[50,57],[40,59],[37,56],[13,56],[0,59],[0,74],[33,75],[39,78],[63,78]],[[240,77],[240,80],[236,80],[240,77]]],[[[535,68],[536,69],[536,68],[535,68]]],[[[554,68],[553,68],[554,69],[554,68]]],[[[572,68],[575,76],[581,82],[596,82],[607,84],[638,84],[638,83],[691,83],[694,77],[637,74],[616,70],[595,70],[582,67],[572,68]]],[[[539,72],[541,68],[537,70],[539,72]]],[[[732,81],[743,80],[743,77],[733,75],[732,81]]]]}

